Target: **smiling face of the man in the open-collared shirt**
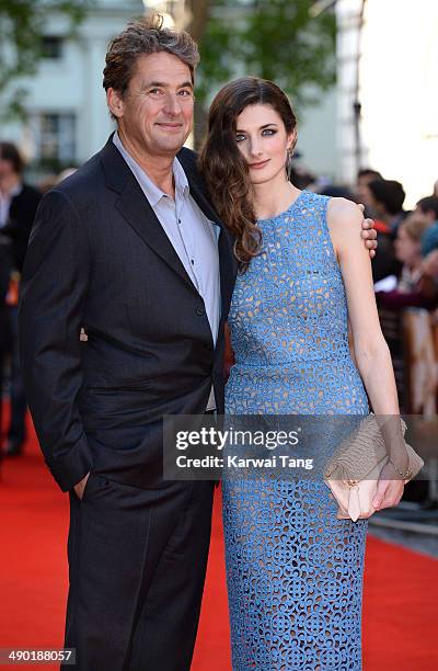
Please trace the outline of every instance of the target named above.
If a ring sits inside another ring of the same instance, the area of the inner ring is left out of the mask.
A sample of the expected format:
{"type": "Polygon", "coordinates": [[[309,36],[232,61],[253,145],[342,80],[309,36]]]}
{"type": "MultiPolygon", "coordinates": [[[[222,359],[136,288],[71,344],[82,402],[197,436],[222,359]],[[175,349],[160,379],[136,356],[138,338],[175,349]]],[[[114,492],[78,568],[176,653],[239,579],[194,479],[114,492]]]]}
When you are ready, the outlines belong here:
{"type": "Polygon", "coordinates": [[[108,105],[136,152],[173,157],[193,126],[191,70],[165,52],[140,56],[125,95],[110,89],[108,105]]]}

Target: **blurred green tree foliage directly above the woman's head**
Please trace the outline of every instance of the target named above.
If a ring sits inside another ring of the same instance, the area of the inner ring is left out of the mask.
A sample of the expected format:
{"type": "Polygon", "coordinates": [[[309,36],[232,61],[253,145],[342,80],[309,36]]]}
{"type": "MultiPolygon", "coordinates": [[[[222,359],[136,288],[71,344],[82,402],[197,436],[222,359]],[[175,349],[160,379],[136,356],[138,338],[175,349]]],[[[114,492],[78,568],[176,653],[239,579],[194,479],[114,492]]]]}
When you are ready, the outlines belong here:
{"type": "MultiPolygon", "coordinates": [[[[206,0],[198,0],[201,5],[206,0]]],[[[197,0],[193,0],[196,12],[197,0]]],[[[272,79],[295,103],[309,103],[335,81],[333,12],[311,14],[314,0],[212,0],[199,39],[197,94],[240,75],[272,79]]],[[[199,29],[198,29],[199,30],[199,29]]]]}

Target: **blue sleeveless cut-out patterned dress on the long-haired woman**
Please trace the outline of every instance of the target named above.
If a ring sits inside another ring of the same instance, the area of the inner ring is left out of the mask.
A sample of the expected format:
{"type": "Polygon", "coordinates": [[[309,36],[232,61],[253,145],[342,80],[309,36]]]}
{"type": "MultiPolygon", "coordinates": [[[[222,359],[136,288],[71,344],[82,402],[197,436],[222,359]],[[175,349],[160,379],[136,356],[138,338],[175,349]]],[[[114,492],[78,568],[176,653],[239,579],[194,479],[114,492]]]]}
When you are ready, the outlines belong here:
{"type": "MultiPolygon", "coordinates": [[[[238,276],[228,321],[227,414],[369,412],[327,202],[302,191],[258,221],[264,251],[238,276]]],[[[321,479],[224,479],[222,496],[234,671],[361,669],[367,521],[337,520],[321,479]]]]}

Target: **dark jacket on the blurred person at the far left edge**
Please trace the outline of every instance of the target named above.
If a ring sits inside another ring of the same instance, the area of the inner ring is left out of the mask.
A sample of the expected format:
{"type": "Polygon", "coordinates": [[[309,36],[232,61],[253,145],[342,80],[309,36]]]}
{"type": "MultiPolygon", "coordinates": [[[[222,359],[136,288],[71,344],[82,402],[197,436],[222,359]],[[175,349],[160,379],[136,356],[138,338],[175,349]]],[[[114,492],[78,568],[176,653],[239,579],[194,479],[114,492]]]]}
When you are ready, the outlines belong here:
{"type": "Polygon", "coordinates": [[[2,229],[2,234],[11,239],[12,262],[20,272],[23,269],[28,237],[41,200],[39,191],[28,184],[23,184],[21,192],[11,201],[9,223],[2,229]]]}

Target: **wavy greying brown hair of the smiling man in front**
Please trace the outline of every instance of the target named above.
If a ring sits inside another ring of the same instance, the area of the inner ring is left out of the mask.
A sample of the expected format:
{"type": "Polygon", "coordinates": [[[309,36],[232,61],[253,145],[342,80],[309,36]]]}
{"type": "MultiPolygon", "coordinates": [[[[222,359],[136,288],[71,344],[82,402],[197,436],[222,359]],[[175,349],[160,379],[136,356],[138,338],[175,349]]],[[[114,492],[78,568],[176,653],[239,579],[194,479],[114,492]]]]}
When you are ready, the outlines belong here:
{"type": "Polygon", "coordinates": [[[152,14],[128,23],[126,29],[114,37],[106,53],[103,71],[103,88],[115,89],[123,96],[135,73],[140,56],[166,52],[188,66],[194,82],[199,52],[196,42],[185,31],[163,26],[163,16],[152,14]]]}

